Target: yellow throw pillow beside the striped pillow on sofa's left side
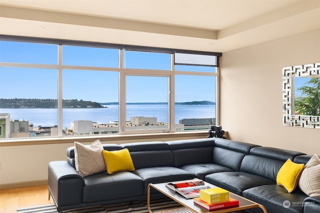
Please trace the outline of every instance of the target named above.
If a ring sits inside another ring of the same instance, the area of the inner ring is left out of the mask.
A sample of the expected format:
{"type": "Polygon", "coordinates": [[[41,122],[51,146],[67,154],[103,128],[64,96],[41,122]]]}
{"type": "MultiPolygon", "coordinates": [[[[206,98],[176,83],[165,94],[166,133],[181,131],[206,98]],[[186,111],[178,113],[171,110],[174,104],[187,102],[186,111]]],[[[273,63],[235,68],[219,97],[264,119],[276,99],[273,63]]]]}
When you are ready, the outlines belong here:
{"type": "Polygon", "coordinates": [[[119,171],[134,171],[133,162],[128,149],[106,151],[102,150],[106,171],[113,174],[119,171]]]}

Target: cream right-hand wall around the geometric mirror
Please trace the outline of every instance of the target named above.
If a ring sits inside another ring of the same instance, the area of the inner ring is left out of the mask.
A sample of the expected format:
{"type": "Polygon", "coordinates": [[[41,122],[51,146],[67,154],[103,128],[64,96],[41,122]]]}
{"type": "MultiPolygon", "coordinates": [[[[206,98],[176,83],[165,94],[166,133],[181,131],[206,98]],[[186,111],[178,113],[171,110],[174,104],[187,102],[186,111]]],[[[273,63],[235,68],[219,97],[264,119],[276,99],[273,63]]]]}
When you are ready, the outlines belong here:
{"type": "Polygon", "coordinates": [[[282,67],[317,62],[320,30],[224,52],[220,124],[229,138],[319,155],[320,129],[282,126],[282,67]]]}

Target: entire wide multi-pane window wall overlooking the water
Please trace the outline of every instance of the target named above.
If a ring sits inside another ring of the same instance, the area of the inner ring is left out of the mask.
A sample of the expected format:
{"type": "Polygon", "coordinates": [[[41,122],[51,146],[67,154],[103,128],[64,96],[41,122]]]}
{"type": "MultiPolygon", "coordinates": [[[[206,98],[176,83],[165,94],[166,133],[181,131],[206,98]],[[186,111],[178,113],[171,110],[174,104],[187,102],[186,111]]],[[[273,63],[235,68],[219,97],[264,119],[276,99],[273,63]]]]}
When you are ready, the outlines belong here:
{"type": "Polygon", "coordinates": [[[13,40],[0,41],[1,139],[190,131],[216,124],[219,53],[13,40]]]}

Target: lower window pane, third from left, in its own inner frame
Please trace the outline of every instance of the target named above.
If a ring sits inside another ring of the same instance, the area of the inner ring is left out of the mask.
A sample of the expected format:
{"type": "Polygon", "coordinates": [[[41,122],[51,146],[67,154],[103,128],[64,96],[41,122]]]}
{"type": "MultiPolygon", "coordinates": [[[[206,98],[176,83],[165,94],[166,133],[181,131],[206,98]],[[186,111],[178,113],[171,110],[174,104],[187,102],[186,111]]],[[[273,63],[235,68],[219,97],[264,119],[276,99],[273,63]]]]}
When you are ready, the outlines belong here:
{"type": "Polygon", "coordinates": [[[168,112],[168,77],[126,76],[127,130],[167,130],[168,112]]]}

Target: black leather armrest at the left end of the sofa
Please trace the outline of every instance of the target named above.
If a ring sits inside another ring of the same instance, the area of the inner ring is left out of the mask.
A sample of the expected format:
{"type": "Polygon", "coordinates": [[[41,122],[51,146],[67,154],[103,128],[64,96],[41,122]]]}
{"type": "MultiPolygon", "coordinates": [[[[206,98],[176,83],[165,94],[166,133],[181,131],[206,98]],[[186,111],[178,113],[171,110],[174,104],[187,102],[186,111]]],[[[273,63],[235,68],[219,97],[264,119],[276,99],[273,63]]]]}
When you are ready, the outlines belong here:
{"type": "Polygon", "coordinates": [[[81,204],[83,185],[83,177],[67,161],[48,164],[48,190],[57,208],[81,204]]]}

